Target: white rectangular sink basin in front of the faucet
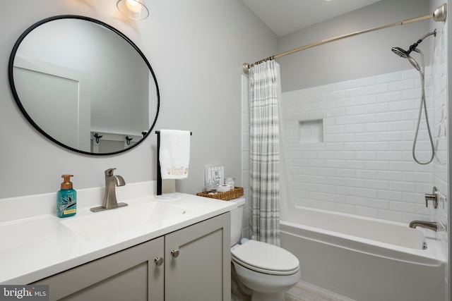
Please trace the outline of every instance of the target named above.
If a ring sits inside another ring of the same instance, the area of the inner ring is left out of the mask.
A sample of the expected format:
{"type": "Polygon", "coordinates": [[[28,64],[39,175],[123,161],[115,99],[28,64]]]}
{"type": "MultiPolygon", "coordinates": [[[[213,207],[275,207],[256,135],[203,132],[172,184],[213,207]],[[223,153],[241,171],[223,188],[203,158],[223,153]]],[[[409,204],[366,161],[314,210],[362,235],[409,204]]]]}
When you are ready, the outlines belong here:
{"type": "Polygon", "coordinates": [[[76,235],[88,240],[96,240],[145,225],[153,224],[161,227],[170,221],[184,219],[188,211],[188,209],[163,202],[147,202],[90,212],[87,216],[74,216],[61,223],[76,235]]]}

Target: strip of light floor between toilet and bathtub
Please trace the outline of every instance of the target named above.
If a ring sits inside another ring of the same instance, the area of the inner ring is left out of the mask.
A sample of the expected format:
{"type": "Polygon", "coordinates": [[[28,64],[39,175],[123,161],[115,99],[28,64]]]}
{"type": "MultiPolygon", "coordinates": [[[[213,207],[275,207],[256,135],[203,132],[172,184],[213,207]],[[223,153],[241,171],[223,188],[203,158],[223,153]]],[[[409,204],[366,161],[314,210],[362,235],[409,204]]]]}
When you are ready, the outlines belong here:
{"type": "Polygon", "coordinates": [[[288,290],[284,298],[285,301],[354,301],[304,281],[288,290]]]}

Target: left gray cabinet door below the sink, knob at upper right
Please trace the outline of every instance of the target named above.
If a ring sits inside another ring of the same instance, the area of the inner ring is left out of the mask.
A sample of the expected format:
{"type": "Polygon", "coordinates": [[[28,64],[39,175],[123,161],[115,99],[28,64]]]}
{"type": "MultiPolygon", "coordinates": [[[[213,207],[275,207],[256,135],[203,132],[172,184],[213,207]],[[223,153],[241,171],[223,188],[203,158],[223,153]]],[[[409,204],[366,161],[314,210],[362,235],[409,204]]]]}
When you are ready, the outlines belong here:
{"type": "Polygon", "coordinates": [[[163,252],[156,238],[35,284],[49,285],[50,300],[163,301],[164,264],[154,262],[163,252]]]}

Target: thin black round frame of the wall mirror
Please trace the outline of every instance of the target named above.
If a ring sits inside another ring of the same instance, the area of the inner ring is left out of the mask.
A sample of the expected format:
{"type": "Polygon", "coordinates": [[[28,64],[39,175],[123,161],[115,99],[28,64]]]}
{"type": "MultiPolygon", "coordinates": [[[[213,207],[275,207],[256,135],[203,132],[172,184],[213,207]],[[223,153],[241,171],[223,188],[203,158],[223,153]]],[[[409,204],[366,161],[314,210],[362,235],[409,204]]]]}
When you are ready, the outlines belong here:
{"type": "Polygon", "coordinates": [[[112,27],[111,25],[108,25],[107,23],[104,23],[100,20],[96,20],[94,18],[90,18],[90,17],[85,17],[85,16],[77,16],[77,15],[61,15],[61,16],[53,16],[53,17],[49,17],[49,18],[45,18],[43,20],[38,21],[37,23],[31,25],[30,27],[28,27],[27,30],[25,30],[23,32],[22,35],[20,35],[20,37],[18,38],[16,44],[14,44],[13,50],[11,51],[11,56],[9,57],[9,63],[8,63],[8,77],[9,77],[9,85],[11,87],[11,92],[13,93],[13,97],[16,100],[16,104],[18,105],[20,111],[23,113],[23,116],[25,116],[25,118],[28,120],[28,122],[33,125],[33,127],[39,131],[42,135],[44,135],[45,137],[47,137],[49,140],[52,140],[53,142],[57,143],[57,145],[60,145],[61,147],[64,147],[66,149],[70,149],[73,152],[78,152],[79,154],[89,154],[89,155],[94,155],[94,156],[108,156],[108,155],[112,155],[112,154],[120,154],[122,152],[127,152],[130,149],[133,149],[133,147],[136,147],[138,145],[141,144],[141,142],[143,142],[145,140],[146,137],[148,137],[148,135],[150,134],[150,132],[152,132],[155,123],[157,122],[157,117],[160,111],[160,92],[159,92],[159,88],[158,88],[158,84],[157,84],[157,78],[155,78],[155,73],[153,68],[150,66],[150,63],[148,61],[148,59],[146,59],[145,55],[143,54],[143,52],[136,46],[135,43],[133,43],[131,41],[131,39],[129,39],[129,37],[127,37],[126,35],[124,35],[122,32],[120,32],[119,30],[117,30],[116,28],[112,27]],[[27,111],[25,111],[25,108],[23,107],[22,103],[20,102],[20,99],[18,97],[17,91],[16,91],[16,85],[14,85],[14,78],[13,78],[13,63],[14,63],[14,58],[16,56],[16,52],[18,50],[18,47],[20,46],[20,43],[23,41],[23,39],[25,39],[25,37],[32,32],[32,30],[34,30],[36,27],[39,27],[40,25],[44,24],[44,23],[48,23],[50,21],[53,20],[60,20],[60,19],[79,19],[79,20],[86,20],[86,21],[90,21],[93,23],[96,23],[97,25],[102,25],[104,27],[106,27],[109,30],[112,30],[112,32],[115,32],[117,35],[119,35],[120,37],[122,37],[123,39],[126,40],[126,42],[129,42],[129,44],[131,45],[131,47],[133,47],[133,49],[135,49],[138,54],[141,56],[141,58],[143,59],[143,61],[146,63],[146,65],[148,66],[150,73],[153,75],[154,78],[154,82],[155,82],[155,90],[157,92],[157,111],[155,113],[155,118],[153,121],[153,124],[150,125],[150,128],[148,130],[147,133],[143,132],[143,138],[141,138],[141,140],[139,140],[138,142],[136,142],[135,144],[131,145],[131,147],[127,147],[125,149],[120,149],[117,152],[108,152],[108,153],[93,153],[93,152],[84,152],[80,149],[75,149],[73,147],[69,147],[68,145],[64,145],[63,143],[59,142],[58,140],[54,139],[54,137],[50,136],[49,134],[47,134],[44,130],[42,130],[42,128],[40,128],[35,121],[32,120],[32,118],[30,117],[30,115],[27,113],[27,111]]]}

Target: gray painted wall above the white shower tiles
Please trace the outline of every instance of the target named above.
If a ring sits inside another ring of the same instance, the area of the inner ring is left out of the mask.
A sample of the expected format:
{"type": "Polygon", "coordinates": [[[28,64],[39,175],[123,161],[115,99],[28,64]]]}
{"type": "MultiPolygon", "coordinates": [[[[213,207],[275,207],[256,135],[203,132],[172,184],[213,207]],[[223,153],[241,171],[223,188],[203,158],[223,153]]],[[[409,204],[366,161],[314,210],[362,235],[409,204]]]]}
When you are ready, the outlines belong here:
{"type": "MultiPolygon", "coordinates": [[[[429,13],[432,11],[427,0],[381,0],[281,37],[278,53],[429,13]]],[[[425,20],[357,35],[283,56],[277,60],[281,66],[282,90],[288,92],[405,70],[410,68],[410,63],[393,54],[391,47],[408,49],[427,32],[429,21],[425,20]]],[[[421,44],[420,47],[428,58],[428,42],[424,43],[426,45],[421,44]]]]}

